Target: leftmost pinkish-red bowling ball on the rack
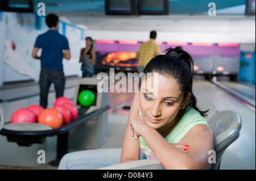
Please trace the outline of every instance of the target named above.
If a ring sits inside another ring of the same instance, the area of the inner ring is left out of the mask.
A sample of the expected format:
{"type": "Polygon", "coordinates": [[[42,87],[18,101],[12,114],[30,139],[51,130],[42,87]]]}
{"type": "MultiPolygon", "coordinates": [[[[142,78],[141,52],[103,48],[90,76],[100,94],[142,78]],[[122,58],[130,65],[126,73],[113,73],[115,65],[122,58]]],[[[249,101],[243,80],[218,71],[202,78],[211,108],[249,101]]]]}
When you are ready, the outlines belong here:
{"type": "Polygon", "coordinates": [[[11,115],[11,123],[36,123],[36,115],[27,108],[20,108],[11,115]]]}

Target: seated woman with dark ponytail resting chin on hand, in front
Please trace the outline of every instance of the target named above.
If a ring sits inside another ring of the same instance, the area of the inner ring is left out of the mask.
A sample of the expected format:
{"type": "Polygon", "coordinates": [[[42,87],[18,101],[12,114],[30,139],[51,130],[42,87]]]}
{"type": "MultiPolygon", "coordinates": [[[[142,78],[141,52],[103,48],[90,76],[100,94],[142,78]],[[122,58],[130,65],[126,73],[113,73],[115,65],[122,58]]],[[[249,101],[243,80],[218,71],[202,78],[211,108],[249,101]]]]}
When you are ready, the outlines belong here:
{"type": "Polygon", "coordinates": [[[203,117],[207,111],[196,107],[191,56],[181,47],[167,49],[152,58],[143,73],[146,77],[131,104],[122,152],[69,153],[59,169],[98,169],[145,157],[159,159],[165,169],[210,169],[208,151],[214,149],[214,134],[203,117]]]}

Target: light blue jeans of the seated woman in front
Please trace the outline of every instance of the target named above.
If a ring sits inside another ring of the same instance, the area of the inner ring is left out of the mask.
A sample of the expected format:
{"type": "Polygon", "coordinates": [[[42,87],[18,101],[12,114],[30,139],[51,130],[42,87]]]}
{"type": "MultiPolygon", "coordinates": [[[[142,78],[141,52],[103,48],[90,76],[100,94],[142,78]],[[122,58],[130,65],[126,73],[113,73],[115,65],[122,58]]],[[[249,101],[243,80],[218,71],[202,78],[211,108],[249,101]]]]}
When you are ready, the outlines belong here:
{"type": "MultiPolygon", "coordinates": [[[[75,151],[61,158],[58,170],[95,170],[120,163],[121,148],[75,151]]],[[[141,151],[140,159],[146,159],[141,151]]]]}

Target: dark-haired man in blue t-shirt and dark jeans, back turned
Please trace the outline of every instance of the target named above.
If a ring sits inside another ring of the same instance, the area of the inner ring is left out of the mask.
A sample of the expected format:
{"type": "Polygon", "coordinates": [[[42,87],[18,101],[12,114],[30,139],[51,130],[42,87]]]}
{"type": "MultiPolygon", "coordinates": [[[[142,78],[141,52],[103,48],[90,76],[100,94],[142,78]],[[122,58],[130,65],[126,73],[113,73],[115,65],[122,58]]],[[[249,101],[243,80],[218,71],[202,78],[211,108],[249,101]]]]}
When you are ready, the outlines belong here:
{"type": "Polygon", "coordinates": [[[63,72],[63,58],[70,60],[68,40],[58,32],[59,18],[55,14],[46,17],[49,30],[36,38],[32,57],[41,60],[39,78],[40,106],[47,108],[48,92],[51,83],[55,85],[56,98],[64,95],[65,75],[63,72]],[[38,57],[39,49],[42,49],[38,57]]]}

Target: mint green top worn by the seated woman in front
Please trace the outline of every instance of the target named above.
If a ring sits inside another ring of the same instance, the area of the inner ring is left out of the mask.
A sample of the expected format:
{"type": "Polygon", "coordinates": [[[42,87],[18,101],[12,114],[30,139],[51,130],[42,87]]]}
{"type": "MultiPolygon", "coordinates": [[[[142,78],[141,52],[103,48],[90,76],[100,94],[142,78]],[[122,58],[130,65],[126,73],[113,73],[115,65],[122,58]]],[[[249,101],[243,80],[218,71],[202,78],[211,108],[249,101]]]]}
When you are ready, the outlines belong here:
{"type": "MultiPolygon", "coordinates": [[[[172,132],[164,137],[164,139],[170,142],[170,144],[179,143],[181,138],[183,138],[185,134],[187,134],[187,132],[197,124],[208,125],[207,120],[205,120],[198,111],[196,111],[192,107],[188,107],[184,115],[181,117],[179,123],[177,123],[176,127],[172,130],[172,132]]],[[[147,146],[142,136],[139,137],[139,145],[142,152],[147,156],[147,158],[156,158],[154,153],[147,146]]]]}

